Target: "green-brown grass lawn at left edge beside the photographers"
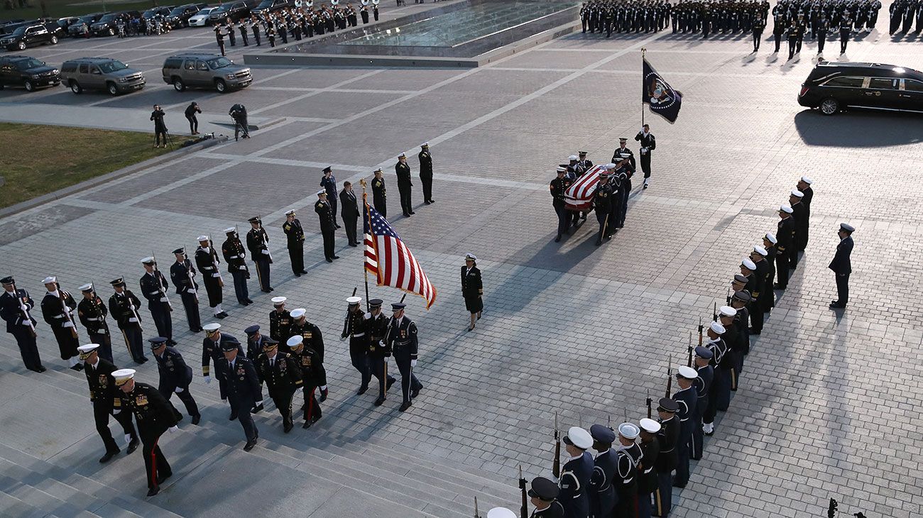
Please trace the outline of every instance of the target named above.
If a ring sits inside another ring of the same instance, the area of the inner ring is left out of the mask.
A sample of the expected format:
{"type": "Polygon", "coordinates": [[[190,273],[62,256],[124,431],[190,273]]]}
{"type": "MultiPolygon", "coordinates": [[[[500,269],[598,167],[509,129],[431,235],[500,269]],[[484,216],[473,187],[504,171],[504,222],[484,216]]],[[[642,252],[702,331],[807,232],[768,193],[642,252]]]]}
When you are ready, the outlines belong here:
{"type": "Polygon", "coordinates": [[[0,123],[0,207],[11,206],[142,160],[170,148],[154,148],[153,135],[0,123]]]}

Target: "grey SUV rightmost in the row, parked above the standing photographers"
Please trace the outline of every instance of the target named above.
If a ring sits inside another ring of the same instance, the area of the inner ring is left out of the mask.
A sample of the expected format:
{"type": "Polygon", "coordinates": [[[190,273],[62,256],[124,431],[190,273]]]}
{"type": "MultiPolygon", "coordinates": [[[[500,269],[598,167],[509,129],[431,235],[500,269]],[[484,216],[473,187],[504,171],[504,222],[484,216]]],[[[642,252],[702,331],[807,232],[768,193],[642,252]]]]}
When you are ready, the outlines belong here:
{"type": "Polygon", "coordinates": [[[163,82],[176,91],[186,88],[215,88],[221,93],[246,88],[253,82],[250,67],[234,65],[230,59],[207,53],[170,56],[163,62],[163,82]]]}

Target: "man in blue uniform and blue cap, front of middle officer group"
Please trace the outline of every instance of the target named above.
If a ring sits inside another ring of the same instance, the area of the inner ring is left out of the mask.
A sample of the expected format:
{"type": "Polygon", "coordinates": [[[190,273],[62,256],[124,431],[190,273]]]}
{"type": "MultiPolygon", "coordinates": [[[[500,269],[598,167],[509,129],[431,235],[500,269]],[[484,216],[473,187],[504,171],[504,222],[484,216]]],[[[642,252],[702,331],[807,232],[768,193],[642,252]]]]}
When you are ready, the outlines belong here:
{"type": "Polygon", "coordinates": [[[250,416],[251,408],[262,408],[263,401],[260,395],[259,379],[253,362],[246,359],[240,344],[226,341],[222,342],[223,358],[220,370],[227,376],[228,403],[232,411],[237,414],[241,427],[244,428],[246,444],[244,451],[249,452],[257,444],[259,431],[253,417],[250,416]]]}

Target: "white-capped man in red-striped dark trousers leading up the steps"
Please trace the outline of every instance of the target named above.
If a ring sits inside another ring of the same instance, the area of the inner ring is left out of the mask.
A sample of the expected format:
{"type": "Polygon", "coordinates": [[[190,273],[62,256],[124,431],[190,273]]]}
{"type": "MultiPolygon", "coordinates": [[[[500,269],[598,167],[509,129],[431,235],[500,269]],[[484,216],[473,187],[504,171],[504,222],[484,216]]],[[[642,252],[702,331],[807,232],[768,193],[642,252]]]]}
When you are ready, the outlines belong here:
{"type": "Polygon", "coordinates": [[[119,394],[122,408],[131,412],[138,422],[138,435],[144,445],[141,456],[148,475],[148,496],[152,497],[160,492],[163,481],[173,475],[170,464],[157,445],[163,432],[179,430],[173,408],[157,389],[148,383],[135,382],[134,369],[120,369],[112,376],[115,386],[122,391],[119,394]]]}

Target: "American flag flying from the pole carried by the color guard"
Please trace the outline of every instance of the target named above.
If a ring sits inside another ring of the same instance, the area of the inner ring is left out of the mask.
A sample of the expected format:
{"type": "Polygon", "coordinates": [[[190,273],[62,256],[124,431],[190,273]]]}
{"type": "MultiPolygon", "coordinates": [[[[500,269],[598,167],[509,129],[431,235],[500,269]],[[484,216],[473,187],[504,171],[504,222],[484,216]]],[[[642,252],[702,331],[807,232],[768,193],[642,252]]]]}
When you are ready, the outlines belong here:
{"type": "Polygon", "coordinates": [[[433,283],[388,220],[375,207],[367,202],[364,205],[366,270],[378,279],[378,286],[390,286],[423,297],[428,310],[436,301],[433,283]]]}

